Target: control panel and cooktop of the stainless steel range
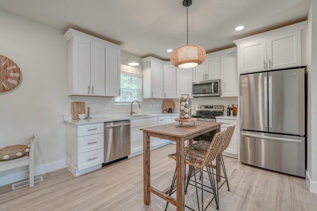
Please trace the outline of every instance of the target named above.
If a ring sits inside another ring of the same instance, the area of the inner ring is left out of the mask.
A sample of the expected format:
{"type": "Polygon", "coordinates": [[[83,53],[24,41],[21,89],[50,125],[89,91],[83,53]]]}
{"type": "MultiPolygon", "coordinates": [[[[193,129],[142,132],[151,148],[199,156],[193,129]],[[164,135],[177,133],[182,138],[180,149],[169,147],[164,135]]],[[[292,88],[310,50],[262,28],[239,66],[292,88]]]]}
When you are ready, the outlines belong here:
{"type": "Polygon", "coordinates": [[[197,105],[196,115],[192,115],[192,117],[198,121],[215,122],[215,118],[221,115],[223,115],[222,105],[197,105]]]}

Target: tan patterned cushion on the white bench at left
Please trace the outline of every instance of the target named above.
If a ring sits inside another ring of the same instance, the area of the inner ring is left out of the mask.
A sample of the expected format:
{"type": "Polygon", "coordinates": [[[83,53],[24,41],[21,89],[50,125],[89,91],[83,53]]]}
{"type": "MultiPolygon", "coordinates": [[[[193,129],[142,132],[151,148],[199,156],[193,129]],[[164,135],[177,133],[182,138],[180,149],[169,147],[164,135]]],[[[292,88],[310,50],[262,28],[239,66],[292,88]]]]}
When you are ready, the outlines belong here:
{"type": "Polygon", "coordinates": [[[15,158],[19,158],[28,153],[30,149],[27,145],[17,144],[7,146],[0,149],[0,161],[7,161],[15,158]]]}

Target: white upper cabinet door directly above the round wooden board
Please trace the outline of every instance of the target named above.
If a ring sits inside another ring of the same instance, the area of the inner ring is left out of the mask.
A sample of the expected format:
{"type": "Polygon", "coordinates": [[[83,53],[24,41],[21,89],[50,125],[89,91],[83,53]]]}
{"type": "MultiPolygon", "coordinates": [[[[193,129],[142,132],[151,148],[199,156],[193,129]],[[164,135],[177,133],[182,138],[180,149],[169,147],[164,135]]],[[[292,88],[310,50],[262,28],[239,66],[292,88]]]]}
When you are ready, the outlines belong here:
{"type": "Polygon", "coordinates": [[[176,93],[176,67],[173,65],[164,65],[164,98],[175,99],[176,93]]]}

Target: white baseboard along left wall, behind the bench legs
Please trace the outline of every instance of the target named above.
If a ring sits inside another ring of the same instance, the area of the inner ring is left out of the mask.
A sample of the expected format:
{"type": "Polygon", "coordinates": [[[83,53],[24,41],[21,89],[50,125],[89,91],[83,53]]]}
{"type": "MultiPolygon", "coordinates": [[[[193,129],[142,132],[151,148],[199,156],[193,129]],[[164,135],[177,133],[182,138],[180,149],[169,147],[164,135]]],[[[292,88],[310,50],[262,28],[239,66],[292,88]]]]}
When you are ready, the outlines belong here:
{"type": "MultiPolygon", "coordinates": [[[[39,174],[47,173],[57,169],[63,169],[66,167],[65,160],[56,161],[54,163],[46,164],[43,166],[38,166],[34,168],[34,176],[39,174]]],[[[23,170],[19,170],[13,173],[8,173],[3,176],[0,176],[0,186],[7,185],[13,182],[17,182],[23,179],[27,179],[27,170],[23,168],[23,170]]]]}

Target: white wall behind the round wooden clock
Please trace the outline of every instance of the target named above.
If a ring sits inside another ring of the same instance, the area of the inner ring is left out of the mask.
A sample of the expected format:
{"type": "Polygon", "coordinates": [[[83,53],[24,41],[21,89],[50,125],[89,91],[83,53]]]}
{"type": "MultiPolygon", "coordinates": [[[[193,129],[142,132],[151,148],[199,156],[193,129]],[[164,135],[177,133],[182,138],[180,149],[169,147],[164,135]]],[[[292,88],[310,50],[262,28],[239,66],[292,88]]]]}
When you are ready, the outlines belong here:
{"type": "MultiPolygon", "coordinates": [[[[0,10],[1,54],[17,63],[22,83],[0,95],[0,148],[27,144],[40,137],[35,166],[65,166],[65,126],[69,113],[67,93],[67,44],[62,31],[0,10]]],[[[45,170],[45,169],[44,169],[45,170]]],[[[0,175],[5,172],[0,172],[0,175]]],[[[0,179],[0,185],[3,179],[0,179]]]]}

